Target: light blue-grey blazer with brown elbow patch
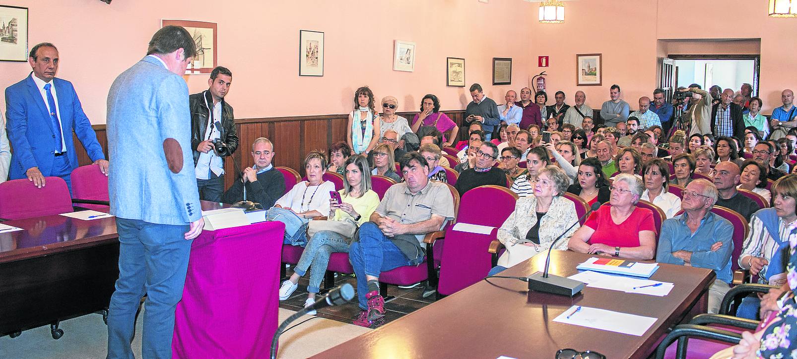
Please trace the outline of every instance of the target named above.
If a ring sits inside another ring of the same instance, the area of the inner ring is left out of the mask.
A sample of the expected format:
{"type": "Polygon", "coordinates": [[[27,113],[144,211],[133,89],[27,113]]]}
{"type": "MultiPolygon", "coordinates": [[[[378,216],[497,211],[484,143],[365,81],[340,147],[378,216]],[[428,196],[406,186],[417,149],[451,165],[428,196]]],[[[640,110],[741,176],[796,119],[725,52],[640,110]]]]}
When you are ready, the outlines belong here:
{"type": "Polygon", "coordinates": [[[108,92],[108,194],[116,217],[184,225],[202,217],[188,86],[144,57],[108,92]]]}

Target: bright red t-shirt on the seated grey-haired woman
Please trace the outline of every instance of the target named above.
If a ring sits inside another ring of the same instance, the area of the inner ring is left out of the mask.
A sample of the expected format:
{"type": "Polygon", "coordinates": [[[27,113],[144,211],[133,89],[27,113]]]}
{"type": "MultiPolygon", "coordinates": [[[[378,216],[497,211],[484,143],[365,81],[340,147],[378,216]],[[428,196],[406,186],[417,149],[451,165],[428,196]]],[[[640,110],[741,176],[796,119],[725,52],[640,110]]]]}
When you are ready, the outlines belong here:
{"type": "Polygon", "coordinates": [[[611,205],[602,205],[592,213],[584,225],[595,230],[587,243],[606,244],[610,247],[639,247],[639,232],[656,232],[653,212],[650,209],[634,208],[634,212],[621,224],[611,219],[611,205]]]}

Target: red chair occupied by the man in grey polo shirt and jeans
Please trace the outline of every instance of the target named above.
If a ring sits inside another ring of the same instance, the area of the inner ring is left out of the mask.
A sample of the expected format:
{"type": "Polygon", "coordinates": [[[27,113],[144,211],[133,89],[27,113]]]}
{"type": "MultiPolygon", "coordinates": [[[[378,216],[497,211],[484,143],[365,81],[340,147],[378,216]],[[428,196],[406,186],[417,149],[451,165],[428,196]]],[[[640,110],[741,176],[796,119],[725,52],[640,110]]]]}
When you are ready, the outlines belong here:
{"type": "MultiPolygon", "coordinates": [[[[459,209],[459,193],[457,193],[457,189],[454,189],[452,185],[446,185],[453,197],[453,208],[456,215],[459,209]]],[[[427,279],[429,280],[429,287],[437,287],[438,265],[435,256],[440,256],[442,254],[442,247],[440,247],[442,243],[437,243],[435,245],[435,242],[445,238],[446,231],[448,231],[450,227],[453,227],[455,222],[456,219],[447,223],[441,231],[426,234],[426,237],[423,239],[423,242],[426,244],[426,259],[424,259],[422,263],[417,266],[402,266],[392,269],[391,271],[383,271],[382,274],[379,275],[379,294],[387,298],[387,284],[407,286],[427,279]]]]}

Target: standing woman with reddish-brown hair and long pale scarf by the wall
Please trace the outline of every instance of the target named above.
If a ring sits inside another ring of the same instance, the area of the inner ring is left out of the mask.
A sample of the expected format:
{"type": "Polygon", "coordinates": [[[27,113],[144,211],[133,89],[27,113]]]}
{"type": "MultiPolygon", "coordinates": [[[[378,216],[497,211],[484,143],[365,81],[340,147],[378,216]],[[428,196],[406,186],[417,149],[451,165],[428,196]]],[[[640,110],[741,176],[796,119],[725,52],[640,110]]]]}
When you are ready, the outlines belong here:
{"type": "Polygon", "coordinates": [[[355,154],[367,154],[382,137],[379,129],[382,121],[377,116],[374,92],[367,86],[358,88],[354,92],[354,111],[349,114],[346,127],[346,142],[355,154]]]}

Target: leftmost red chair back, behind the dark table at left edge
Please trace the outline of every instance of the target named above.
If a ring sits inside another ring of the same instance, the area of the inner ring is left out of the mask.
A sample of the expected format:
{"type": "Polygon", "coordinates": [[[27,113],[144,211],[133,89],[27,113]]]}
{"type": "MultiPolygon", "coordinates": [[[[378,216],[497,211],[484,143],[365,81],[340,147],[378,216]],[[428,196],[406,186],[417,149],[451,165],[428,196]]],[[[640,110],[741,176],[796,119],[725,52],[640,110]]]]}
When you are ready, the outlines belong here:
{"type": "Polygon", "coordinates": [[[27,178],[0,183],[0,218],[18,220],[73,212],[66,182],[45,177],[45,183],[40,189],[27,178]]]}

